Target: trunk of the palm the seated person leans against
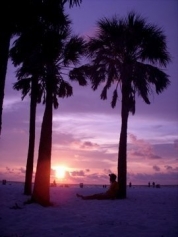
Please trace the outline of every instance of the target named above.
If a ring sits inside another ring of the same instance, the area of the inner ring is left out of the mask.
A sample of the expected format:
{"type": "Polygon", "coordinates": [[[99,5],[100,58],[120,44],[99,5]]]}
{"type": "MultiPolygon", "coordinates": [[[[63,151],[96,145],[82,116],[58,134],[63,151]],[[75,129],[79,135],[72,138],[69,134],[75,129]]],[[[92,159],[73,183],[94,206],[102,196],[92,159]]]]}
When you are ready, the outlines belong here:
{"type": "Polygon", "coordinates": [[[122,90],[121,132],[118,152],[118,198],[127,197],[127,123],[128,123],[128,90],[122,90]]]}

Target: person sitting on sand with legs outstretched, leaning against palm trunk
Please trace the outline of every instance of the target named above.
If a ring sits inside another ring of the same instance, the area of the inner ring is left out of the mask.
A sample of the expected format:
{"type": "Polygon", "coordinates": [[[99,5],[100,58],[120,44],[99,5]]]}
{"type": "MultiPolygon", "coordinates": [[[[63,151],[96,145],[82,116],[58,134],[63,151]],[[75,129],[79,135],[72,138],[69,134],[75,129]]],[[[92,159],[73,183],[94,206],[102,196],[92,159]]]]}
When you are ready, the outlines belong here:
{"type": "Polygon", "coordinates": [[[97,193],[89,196],[83,196],[80,194],[76,194],[77,197],[80,197],[84,200],[91,200],[91,199],[98,199],[98,200],[104,200],[104,199],[116,199],[117,193],[119,190],[118,182],[116,181],[116,175],[115,174],[109,174],[110,176],[110,187],[105,193],[97,193]]]}

